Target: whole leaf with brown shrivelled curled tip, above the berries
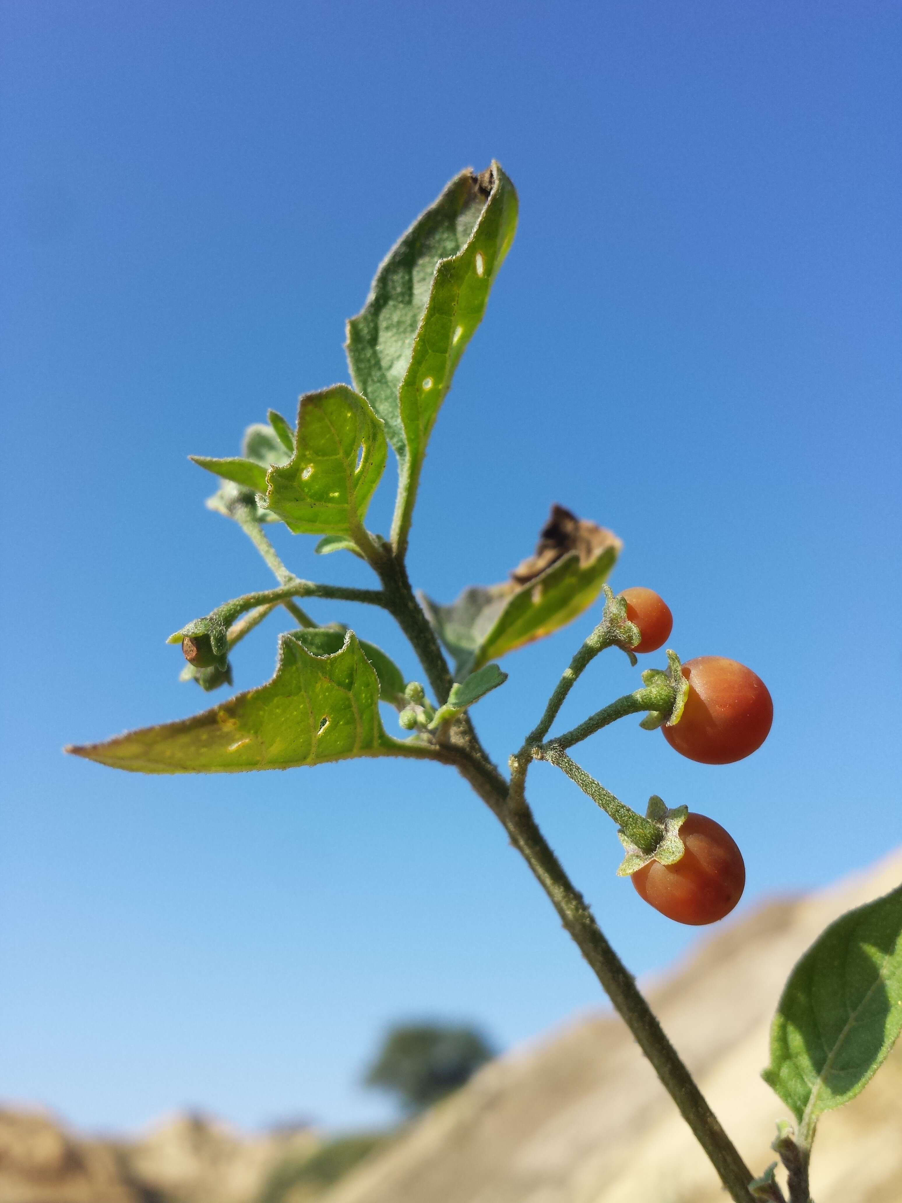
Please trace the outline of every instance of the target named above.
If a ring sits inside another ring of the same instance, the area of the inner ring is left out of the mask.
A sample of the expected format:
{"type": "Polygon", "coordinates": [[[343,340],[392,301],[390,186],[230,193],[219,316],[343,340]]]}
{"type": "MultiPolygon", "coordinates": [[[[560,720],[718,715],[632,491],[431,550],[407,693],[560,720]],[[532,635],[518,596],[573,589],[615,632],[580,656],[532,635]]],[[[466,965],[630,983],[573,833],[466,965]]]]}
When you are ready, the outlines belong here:
{"type": "Polygon", "coordinates": [[[535,555],[502,585],[473,586],[451,605],[423,598],[429,621],[465,677],[488,660],[552,634],[588,609],[621,550],[604,527],[552,508],[535,555]]]}

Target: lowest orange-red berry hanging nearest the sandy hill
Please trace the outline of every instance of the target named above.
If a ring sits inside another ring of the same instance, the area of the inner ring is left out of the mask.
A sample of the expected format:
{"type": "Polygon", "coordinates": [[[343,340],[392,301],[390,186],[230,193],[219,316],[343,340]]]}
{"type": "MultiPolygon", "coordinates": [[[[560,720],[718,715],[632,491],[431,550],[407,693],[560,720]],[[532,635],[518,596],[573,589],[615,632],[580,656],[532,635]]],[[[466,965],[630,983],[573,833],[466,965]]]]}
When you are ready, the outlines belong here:
{"type": "Polygon", "coordinates": [[[746,863],[736,841],[705,814],[689,814],[680,828],[686,852],[675,865],[652,860],[633,873],[640,897],[667,919],[702,926],[736,906],[746,888],[746,863]]]}

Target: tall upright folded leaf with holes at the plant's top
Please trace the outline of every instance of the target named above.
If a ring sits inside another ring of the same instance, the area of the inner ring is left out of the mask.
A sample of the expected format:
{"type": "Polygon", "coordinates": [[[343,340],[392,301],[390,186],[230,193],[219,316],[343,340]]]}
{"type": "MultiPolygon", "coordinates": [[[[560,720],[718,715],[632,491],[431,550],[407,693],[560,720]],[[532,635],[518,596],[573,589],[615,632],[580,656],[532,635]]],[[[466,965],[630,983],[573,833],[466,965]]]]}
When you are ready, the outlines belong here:
{"type": "Polygon", "coordinates": [[[392,248],[348,322],[351,379],[402,461],[399,539],[441,402],[517,225],[517,194],[497,162],[462,172],[392,248]]]}

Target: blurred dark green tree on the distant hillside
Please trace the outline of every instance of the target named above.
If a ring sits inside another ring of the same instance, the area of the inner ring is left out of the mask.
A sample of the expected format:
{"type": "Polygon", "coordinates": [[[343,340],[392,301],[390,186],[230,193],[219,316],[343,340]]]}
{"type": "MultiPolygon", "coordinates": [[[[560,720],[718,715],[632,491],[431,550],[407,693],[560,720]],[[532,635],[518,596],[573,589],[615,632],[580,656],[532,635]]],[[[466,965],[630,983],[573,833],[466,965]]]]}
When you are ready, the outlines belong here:
{"type": "Polygon", "coordinates": [[[416,1114],[463,1086],[493,1056],[474,1027],[398,1024],[386,1033],[364,1081],[392,1091],[408,1114],[416,1114]]]}

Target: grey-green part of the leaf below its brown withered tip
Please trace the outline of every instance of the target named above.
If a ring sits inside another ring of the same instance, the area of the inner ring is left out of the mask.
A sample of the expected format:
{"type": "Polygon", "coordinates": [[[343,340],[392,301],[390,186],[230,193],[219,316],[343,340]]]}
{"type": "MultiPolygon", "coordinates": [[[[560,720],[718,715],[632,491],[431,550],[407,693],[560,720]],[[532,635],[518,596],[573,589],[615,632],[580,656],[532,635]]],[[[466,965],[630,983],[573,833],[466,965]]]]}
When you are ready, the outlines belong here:
{"type": "MultiPolygon", "coordinates": [[[[600,528],[599,528],[600,529],[600,528]]],[[[473,586],[451,605],[423,598],[429,621],[453,656],[459,677],[552,634],[588,609],[601,592],[621,549],[609,539],[586,559],[570,552],[524,585],[473,586]]]]}

